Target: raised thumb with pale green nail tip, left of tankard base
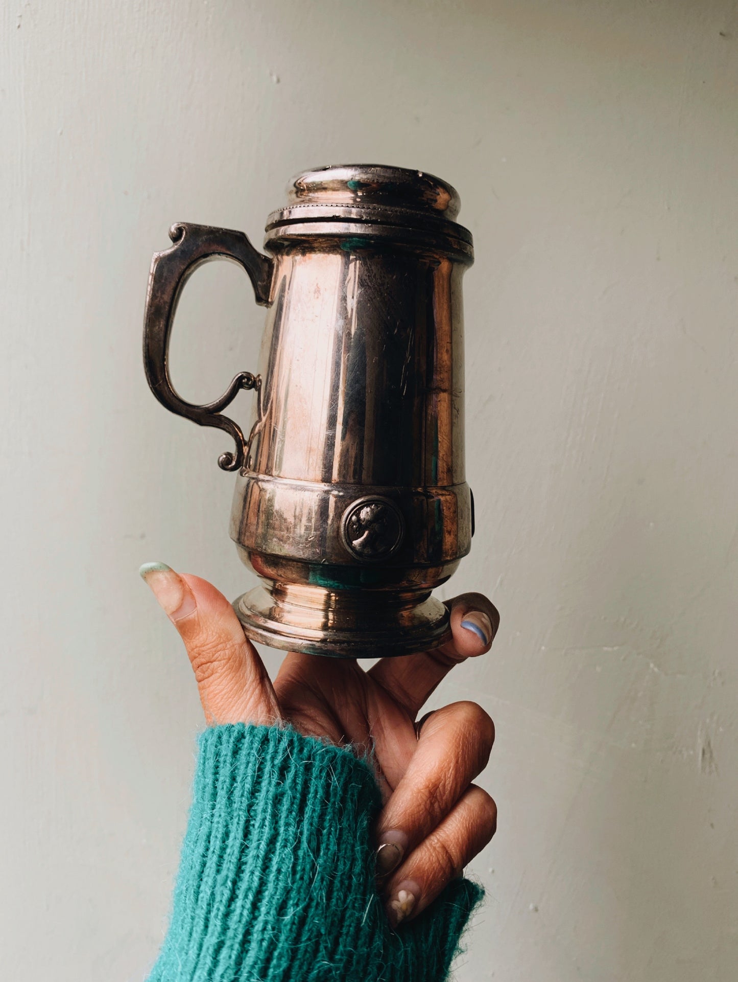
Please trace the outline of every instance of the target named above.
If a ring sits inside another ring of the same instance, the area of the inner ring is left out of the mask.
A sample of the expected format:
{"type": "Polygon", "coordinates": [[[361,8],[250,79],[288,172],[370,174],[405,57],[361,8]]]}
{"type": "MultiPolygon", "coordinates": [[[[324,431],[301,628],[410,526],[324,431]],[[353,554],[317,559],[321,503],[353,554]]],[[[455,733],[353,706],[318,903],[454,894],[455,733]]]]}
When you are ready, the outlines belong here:
{"type": "Polygon", "coordinates": [[[208,726],[278,720],[272,683],[226,597],[207,580],[163,563],[139,572],[185,642],[208,726]]]}

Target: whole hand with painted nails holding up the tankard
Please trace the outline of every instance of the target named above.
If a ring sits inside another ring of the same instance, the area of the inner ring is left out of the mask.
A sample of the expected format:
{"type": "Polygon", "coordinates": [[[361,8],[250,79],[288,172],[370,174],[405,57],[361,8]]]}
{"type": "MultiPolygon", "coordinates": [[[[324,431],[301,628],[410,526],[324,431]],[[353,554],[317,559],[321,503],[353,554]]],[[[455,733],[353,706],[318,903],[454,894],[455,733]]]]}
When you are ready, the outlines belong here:
{"type": "Polygon", "coordinates": [[[434,651],[383,658],[368,672],[290,652],[272,684],[214,586],[160,563],[141,575],[185,642],[208,725],[289,723],[306,736],[373,749],[384,802],[377,872],[394,925],[420,913],[489,843],[497,807],[472,781],[490,756],[492,720],[475,702],[455,702],[415,723],[454,665],[490,649],[500,616],[486,597],[449,601],[452,638],[434,651]]]}

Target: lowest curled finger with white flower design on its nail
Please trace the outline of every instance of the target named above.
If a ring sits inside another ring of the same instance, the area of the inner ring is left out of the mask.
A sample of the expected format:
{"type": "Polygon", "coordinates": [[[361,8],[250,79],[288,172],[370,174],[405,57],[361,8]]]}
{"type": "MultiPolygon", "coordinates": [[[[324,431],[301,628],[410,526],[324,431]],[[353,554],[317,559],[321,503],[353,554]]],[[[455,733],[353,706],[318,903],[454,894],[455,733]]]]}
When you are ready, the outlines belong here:
{"type": "Polygon", "coordinates": [[[443,822],[395,871],[385,887],[387,913],[396,927],[436,900],[451,880],[495,835],[498,809],[487,791],[471,785],[443,822]]]}

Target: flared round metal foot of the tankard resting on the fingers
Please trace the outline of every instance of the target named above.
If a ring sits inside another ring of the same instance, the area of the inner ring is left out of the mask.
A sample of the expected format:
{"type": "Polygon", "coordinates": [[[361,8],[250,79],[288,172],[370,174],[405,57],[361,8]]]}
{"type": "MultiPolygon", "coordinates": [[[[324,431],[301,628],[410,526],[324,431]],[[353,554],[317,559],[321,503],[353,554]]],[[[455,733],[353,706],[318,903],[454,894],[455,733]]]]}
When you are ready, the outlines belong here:
{"type": "Polygon", "coordinates": [[[257,586],[234,601],[248,638],[271,648],[331,658],[383,658],[437,648],[450,637],[448,610],[427,593],[257,586]]]}

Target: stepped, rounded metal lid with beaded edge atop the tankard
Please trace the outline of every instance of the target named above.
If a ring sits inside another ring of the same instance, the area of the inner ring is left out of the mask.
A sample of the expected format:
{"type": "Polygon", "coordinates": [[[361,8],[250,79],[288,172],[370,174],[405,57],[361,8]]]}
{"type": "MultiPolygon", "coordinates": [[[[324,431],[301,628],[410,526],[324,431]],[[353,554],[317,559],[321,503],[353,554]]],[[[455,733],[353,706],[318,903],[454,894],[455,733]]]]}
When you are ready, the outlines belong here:
{"type": "Polygon", "coordinates": [[[383,164],[315,167],[292,178],[286,207],[267,221],[265,246],[359,237],[437,246],[471,261],[471,233],[455,221],[456,191],[425,171],[383,164]]]}

